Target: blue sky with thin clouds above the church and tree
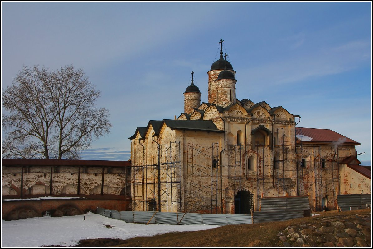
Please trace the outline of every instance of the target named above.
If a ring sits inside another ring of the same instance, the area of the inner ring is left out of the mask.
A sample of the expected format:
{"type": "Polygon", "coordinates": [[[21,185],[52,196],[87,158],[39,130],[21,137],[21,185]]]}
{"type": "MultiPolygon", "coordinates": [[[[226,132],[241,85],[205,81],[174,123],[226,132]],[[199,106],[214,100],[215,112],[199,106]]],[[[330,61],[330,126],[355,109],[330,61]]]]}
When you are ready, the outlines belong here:
{"type": "Polygon", "coordinates": [[[220,39],[236,97],[282,106],[299,127],[358,141],[370,165],[371,3],[1,3],[1,84],[23,65],[84,68],[110,110],[111,134],[81,159],[127,160],[128,138],[148,120],[184,111],[194,84],[207,102],[207,71],[220,39]]]}

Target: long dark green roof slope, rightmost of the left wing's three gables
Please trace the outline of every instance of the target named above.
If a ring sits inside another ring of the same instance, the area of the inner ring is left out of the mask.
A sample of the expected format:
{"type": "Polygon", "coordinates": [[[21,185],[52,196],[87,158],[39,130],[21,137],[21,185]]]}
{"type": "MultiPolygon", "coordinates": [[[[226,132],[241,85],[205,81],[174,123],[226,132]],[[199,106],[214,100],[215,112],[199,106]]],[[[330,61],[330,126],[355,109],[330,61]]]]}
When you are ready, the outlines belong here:
{"type": "Polygon", "coordinates": [[[172,130],[201,130],[207,132],[224,132],[217,129],[211,120],[173,120],[163,119],[164,124],[172,130]]]}

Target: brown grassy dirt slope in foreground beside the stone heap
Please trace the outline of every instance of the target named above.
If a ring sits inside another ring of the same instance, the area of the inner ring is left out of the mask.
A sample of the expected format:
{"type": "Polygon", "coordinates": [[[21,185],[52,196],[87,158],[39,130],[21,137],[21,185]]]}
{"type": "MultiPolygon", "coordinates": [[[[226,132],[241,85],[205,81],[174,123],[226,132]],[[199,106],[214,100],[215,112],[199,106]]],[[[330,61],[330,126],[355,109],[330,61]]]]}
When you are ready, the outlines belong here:
{"type": "MultiPolygon", "coordinates": [[[[354,211],[327,211],[319,217],[336,215],[366,214],[370,209],[354,211]]],[[[244,225],[221,226],[210,230],[194,232],[174,232],[152,237],[135,237],[128,240],[120,239],[88,239],[81,240],[81,247],[276,247],[277,234],[287,226],[301,222],[316,223],[314,217],[298,218],[287,221],[266,222],[244,225]]]]}

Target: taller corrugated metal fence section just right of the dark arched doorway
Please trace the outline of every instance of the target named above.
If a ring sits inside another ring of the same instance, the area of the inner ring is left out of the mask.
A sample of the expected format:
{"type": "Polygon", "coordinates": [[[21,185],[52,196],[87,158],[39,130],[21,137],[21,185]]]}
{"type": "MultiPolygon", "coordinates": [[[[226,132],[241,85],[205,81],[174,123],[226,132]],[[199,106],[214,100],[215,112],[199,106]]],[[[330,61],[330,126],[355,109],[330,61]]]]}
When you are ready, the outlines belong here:
{"type": "Polygon", "coordinates": [[[262,198],[260,212],[253,212],[253,222],[282,221],[302,218],[310,214],[307,196],[262,198]]]}

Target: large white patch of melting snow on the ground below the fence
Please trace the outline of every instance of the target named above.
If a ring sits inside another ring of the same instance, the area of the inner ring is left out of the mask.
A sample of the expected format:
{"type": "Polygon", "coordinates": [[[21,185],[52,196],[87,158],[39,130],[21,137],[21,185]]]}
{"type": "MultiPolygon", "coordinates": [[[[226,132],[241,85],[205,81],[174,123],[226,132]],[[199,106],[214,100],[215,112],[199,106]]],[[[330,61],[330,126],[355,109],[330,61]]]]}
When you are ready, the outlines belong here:
{"type": "Polygon", "coordinates": [[[215,225],[168,225],[126,223],[87,213],[63,217],[35,217],[1,221],[1,247],[75,246],[82,239],[130,239],[168,232],[212,229],[215,225]],[[85,216],[85,220],[84,220],[85,216]],[[106,225],[112,226],[108,229],[106,225]]]}

